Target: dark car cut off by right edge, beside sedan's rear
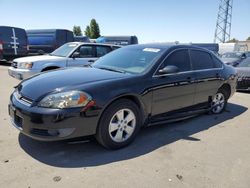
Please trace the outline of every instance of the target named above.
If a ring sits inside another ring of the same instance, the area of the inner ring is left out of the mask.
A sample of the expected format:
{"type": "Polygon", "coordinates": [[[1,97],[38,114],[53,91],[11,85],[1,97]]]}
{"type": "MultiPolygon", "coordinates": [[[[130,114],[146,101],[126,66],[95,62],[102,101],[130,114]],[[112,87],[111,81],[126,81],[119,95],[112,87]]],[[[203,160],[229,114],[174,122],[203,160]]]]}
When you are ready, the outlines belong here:
{"type": "Polygon", "coordinates": [[[237,90],[250,91],[250,57],[243,60],[236,70],[238,72],[237,90]]]}

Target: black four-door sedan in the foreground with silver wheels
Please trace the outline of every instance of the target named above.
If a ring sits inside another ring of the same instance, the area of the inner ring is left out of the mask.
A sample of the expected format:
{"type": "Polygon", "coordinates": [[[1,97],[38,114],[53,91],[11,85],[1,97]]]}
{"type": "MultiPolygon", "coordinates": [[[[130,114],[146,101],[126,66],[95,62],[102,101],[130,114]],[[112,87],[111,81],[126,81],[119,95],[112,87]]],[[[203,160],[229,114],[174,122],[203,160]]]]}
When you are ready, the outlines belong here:
{"type": "Polygon", "coordinates": [[[191,45],[133,45],[92,67],[56,70],[21,82],[10,97],[12,124],[34,139],[95,135],[106,148],[133,141],[142,126],[221,113],[236,71],[191,45]]]}

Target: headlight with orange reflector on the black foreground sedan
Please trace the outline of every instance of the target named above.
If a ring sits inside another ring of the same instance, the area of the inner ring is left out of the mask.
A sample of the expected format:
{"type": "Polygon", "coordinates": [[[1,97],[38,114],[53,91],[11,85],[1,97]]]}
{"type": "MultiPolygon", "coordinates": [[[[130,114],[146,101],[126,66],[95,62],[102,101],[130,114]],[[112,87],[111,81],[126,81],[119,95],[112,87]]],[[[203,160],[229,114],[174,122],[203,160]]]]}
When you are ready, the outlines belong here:
{"type": "Polygon", "coordinates": [[[44,97],[38,104],[45,108],[84,107],[92,100],[91,96],[82,91],[68,91],[44,97]]]}

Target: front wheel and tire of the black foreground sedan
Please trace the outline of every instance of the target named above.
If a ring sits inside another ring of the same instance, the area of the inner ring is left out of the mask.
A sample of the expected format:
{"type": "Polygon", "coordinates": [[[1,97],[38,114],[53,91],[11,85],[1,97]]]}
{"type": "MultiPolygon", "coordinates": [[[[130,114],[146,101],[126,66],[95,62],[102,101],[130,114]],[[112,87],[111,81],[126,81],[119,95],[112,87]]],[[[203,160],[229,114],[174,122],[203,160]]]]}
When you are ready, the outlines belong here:
{"type": "Polygon", "coordinates": [[[130,144],[142,125],[138,106],[128,99],[115,101],[103,112],[96,139],[107,149],[119,149],[130,144]]]}

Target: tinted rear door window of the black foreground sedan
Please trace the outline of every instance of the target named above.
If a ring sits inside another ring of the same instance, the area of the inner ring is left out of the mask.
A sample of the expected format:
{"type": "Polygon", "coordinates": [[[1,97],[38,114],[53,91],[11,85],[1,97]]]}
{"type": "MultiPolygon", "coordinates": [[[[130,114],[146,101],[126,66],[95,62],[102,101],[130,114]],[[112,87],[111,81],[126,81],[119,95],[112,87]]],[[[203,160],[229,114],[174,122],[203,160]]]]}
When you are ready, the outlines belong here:
{"type": "Polygon", "coordinates": [[[214,63],[209,53],[200,50],[191,50],[190,55],[194,70],[214,68],[214,63]]]}

